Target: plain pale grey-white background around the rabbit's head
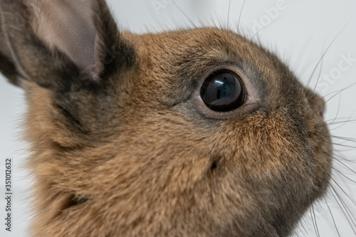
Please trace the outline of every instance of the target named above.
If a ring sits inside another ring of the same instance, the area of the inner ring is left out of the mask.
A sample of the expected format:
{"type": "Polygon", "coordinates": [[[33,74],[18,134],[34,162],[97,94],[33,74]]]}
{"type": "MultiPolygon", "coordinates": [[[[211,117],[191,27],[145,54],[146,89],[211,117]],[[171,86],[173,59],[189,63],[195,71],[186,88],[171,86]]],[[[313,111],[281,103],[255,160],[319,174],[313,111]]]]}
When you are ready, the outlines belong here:
{"type": "MultiPolygon", "coordinates": [[[[229,27],[236,31],[243,5],[243,1],[232,0],[229,11],[229,0],[176,0],[175,4],[170,0],[108,2],[120,27],[136,33],[192,26],[192,23],[201,26],[200,22],[204,22],[206,26],[226,27],[228,16],[229,27]]],[[[240,33],[250,37],[266,26],[253,40],[261,41],[263,46],[278,53],[305,85],[308,84],[308,79],[323,53],[330,46],[309,87],[316,88],[320,95],[325,96],[325,100],[332,98],[327,103],[325,120],[331,124],[330,130],[334,136],[350,139],[356,139],[356,123],[352,122],[352,119],[356,119],[356,86],[350,87],[352,83],[356,83],[355,14],[356,1],[351,0],[249,0],[244,5],[239,24],[240,33]],[[316,85],[318,75],[320,79],[316,85]],[[342,89],[345,90],[340,93],[342,89]]],[[[0,76],[0,236],[27,236],[26,226],[31,221],[31,214],[27,212],[28,199],[25,192],[29,178],[21,168],[27,153],[26,144],[21,142],[20,137],[25,110],[26,103],[21,89],[9,85],[0,76]],[[4,164],[5,159],[9,157],[13,160],[15,175],[11,233],[4,231],[5,202],[2,197],[4,164]]],[[[352,184],[355,180],[352,173],[352,162],[356,162],[355,149],[347,146],[356,144],[336,138],[334,142],[337,154],[335,158],[338,161],[335,159],[333,178],[337,184],[333,181],[332,184],[340,198],[335,199],[337,195],[330,189],[327,202],[322,199],[320,204],[314,205],[317,227],[313,225],[311,216],[314,215],[310,214],[313,213],[310,209],[310,212],[305,214],[296,236],[317,236],[315,228],[318,228],[320,236],[338,236],[337,230],[340,236],[356,236],[352,231],[352,228],[356,229],[355,224],[347,221],[345,216],[348,214],[345,210],[346,214],[343,214],[340,208],[342,199],[349,208],[347,211],[350,216],[356,214],[355,204],[347,199],[347,195],[352,197],[356,194],[356,187],[352,184]]],[[[355,218],[352,218],[352,221],[355,222],[355,218]]]]}

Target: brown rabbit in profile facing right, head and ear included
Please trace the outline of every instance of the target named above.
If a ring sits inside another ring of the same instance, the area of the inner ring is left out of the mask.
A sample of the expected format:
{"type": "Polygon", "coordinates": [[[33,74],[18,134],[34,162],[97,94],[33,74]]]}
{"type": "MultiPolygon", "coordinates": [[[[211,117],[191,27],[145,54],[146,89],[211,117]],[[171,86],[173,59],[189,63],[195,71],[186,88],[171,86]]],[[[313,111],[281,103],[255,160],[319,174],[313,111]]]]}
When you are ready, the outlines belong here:
{"type": "Polygon", "coordinates": [[[328,188],[325,102],[221,28],[138,35],[105,0],[0,0],[31,236],[290,236],[328,188]]]}

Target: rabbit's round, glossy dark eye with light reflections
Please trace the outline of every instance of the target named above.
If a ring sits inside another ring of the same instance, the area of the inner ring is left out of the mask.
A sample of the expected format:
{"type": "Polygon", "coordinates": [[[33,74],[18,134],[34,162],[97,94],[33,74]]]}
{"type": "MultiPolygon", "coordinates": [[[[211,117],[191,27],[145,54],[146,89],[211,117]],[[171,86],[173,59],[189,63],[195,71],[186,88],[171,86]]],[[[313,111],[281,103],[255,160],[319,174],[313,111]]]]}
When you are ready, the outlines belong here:
{"type": "Polygon", "coordinates": [[[210,110],[229,112],[246,101],[246,88],[241,78],[229,70],[218,70],[204,81],[200,96],[210,110]]]}

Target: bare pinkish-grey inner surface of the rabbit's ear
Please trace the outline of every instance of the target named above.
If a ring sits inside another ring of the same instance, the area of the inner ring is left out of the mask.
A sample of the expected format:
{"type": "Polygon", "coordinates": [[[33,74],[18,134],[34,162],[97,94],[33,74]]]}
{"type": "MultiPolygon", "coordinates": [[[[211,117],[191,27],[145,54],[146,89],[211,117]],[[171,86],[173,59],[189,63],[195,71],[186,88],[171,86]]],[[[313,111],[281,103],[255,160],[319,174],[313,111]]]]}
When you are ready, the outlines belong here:
{"type": "Polygon", "coordinates": [[[65,53],[80,70],[103,70],[94,22],[97,1],[37,0],[27,4],[34,12],[33,31],[48,48],[65,53]]]}

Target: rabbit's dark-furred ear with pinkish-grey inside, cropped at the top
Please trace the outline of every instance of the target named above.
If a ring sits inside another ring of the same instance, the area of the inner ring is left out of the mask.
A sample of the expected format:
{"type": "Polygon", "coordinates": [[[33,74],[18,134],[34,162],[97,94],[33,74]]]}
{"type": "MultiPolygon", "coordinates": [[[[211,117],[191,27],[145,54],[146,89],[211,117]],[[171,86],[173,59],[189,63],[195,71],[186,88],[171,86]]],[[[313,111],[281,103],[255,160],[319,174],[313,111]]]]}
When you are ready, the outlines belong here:
{"type": "Polygon", "coordinates": [[[105,0],[0,0],[0,14],[0,70],[12,83],[70,90],[134,61],[105,0]]]}

